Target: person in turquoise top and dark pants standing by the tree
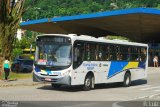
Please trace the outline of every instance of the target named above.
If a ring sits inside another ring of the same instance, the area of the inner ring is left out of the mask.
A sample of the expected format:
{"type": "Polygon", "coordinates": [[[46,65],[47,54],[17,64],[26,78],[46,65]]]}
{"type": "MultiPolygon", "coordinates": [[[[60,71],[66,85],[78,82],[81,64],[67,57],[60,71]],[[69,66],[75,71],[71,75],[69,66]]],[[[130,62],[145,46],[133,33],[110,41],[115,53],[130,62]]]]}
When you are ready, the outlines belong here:
{"type": "Polygon", "coordinates": [[[8,57],[5,57],[5,61],[3,63],[4,73],[5,73],[5,80],[8,80],[8,76],[10,73],[10,62],[8,57]]]}

